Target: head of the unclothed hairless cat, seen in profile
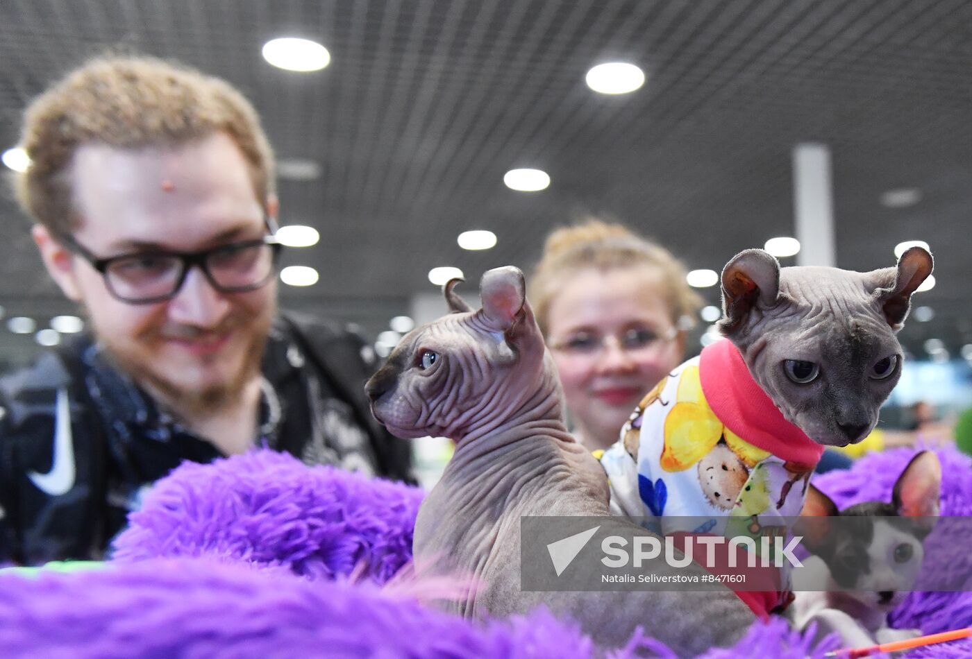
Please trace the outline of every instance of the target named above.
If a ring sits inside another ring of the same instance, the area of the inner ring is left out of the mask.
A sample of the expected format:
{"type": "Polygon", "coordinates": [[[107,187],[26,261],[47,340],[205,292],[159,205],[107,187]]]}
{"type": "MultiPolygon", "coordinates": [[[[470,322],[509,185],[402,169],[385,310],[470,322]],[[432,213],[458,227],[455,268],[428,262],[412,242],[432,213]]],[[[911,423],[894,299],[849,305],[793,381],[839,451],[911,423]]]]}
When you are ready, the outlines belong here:
{"type": "MultiPolygon", "coordinates": [[[[445,286],[451,313],[409,332],[365,384],[371,411],[393,435],[449,437],[495,429],[554,368],[526,301],[523,273],[497,268],[480,282],[473,312],[445,286]]],[[[559,400],[559,396],[557,399],[559,400]]]]}

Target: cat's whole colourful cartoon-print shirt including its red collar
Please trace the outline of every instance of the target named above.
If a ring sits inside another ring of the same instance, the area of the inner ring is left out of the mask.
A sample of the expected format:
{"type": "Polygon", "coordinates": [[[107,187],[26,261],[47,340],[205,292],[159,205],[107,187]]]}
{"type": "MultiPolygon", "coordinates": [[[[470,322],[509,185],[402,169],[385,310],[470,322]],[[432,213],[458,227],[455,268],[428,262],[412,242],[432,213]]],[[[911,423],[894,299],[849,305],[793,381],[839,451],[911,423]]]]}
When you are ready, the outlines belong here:
{"type": "Polygon", "coordinates": [[[800,514],[822,452],[721,340],[659,382],[596,455],[612,513],[657,518],[645,526],[666,536],[745,534],[758,547],[800,514]]]}

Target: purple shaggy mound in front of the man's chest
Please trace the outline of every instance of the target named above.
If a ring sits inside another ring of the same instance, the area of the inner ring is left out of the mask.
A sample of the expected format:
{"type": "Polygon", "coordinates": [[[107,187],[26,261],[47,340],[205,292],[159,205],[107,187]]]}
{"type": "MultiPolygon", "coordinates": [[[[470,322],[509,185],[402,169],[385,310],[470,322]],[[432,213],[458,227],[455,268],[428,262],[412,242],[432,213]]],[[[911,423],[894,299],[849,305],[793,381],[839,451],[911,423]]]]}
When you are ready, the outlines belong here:
{"type": "Polygon", "coordinates": [[[115,560],[209,556],[310,578],[364,569],[383,583],[411,560],[420,489],[258,450],[184,463],[158,481],[114,544],[115,560]]]}

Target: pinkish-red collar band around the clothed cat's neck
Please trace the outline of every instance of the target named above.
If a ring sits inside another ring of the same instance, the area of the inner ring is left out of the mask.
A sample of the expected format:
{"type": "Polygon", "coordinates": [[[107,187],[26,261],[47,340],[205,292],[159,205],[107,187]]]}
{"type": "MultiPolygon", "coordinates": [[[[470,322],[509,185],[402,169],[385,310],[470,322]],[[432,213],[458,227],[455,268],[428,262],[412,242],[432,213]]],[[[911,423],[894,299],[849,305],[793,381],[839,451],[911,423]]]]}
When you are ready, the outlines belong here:
{"type": "Polygon", "coordinates": [[[699,378],[712,412],[746,442],[787,462],[807,467],[819,462],[823,446],[783,417],[731,341],[722,339],[703,348],[699,378]]]}

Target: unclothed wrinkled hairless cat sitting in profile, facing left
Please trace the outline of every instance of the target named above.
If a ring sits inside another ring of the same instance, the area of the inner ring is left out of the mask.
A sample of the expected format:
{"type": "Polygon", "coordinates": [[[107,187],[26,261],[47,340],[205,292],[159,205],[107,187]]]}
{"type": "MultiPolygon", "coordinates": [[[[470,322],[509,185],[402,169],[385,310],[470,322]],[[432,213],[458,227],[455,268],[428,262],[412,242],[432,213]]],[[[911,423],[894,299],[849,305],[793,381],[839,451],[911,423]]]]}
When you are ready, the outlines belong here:
{"type": "Polygon", "coordinates": [[[610,516],[604,471],[562,421],[559,380],[526,301],[523,274],[508,267],[486,273],[483,308],[475,312],[452,291],[455,283],[446,286],[453,313],[406,335],[366,385],[372,411],[392,433],[456,442],[419,511],[417,569],[480,583],[466,599],[446,605],[467,617],[543,605],[572,617],[604,648],[623,645],[638,627],[686,656],[735,643],[753,614],[729,590],[520,590],[523,515],[603,516],[619,533],[648,532],[610,516]]]}

